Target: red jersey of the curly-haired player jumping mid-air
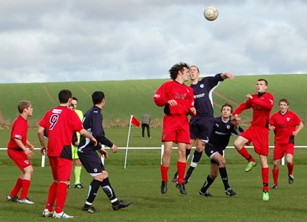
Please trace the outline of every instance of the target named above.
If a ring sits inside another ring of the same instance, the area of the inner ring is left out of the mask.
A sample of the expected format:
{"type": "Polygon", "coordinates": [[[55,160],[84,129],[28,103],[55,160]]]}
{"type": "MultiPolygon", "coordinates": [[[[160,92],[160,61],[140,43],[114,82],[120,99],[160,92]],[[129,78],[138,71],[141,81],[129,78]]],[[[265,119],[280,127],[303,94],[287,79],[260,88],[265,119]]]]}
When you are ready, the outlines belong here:
{"type": "Polygon", "coordinates": [[[162,84],[153,96],[153,101],[158,106],[165,106],[164,112],[169,115],[194,114],[190,108],[194,107],[194,93],[191,87],[180,84],[176,81],[169,81],[162,84]],[[168,105],[169,100],[177,101],[177,105],[168,105]]]}

